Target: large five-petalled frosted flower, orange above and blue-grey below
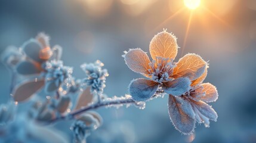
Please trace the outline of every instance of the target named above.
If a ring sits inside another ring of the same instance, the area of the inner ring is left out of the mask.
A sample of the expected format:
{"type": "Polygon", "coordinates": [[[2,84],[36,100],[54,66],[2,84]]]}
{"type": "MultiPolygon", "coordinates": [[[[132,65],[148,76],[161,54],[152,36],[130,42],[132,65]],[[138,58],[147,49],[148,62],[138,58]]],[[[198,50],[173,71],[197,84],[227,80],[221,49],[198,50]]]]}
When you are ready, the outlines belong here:
{"type": "Polygon", "coordinates": [[[205,71],[206,62],[199,55],[187,54],[178,63],[173,63],[178,45],[174,35],[165,30],[152,39],[149,51],[139,48],[125,51],[125,63],[132,71],[149,79],[135,79],[129,85],[129,94],[135,101],[152,98],[158,89],[172,96],[181,96],[190,90],[190,80],[195,80],[205,71]]]}

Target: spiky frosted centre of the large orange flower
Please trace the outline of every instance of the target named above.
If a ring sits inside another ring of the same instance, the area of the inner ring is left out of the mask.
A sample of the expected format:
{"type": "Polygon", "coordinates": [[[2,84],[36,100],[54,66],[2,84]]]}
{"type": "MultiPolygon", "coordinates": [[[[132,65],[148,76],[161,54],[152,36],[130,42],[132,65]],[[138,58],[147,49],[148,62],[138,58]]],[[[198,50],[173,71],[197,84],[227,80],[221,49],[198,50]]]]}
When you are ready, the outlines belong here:
{"type": "Polygon", "coordinates": [[[152,77],[152,80],[162,83],[172,79],[170,76],[175,67],[172,59],[156,57],[156,60],[153,60],[149,66],[151,67],[149,75],[152,77]]]}

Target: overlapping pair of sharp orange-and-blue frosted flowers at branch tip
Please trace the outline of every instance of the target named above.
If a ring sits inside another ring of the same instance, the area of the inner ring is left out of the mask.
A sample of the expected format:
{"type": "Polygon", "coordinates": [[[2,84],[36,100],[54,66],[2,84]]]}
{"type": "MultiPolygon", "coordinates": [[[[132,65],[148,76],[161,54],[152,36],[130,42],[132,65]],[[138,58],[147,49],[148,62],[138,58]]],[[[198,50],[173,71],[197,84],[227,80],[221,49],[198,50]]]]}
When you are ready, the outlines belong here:
{"type": "Polygon", "coordinates": [[[217,120],[217,113],[205,102],[217,100],[215,86],[201,84],[206,77],[208,64],[196,54],[187,54],[174,63],[177,55],[177,39],[164,30],[152,39],[149,45],[150,62],[140,48],[129,49],[123,55],[132,71],[149,79],[135,79],[129,85],[129,94],[135,101],[147,101],[156,92],[169,95],[168,109],[171,121],[181,133],[190,134],[196,121],[209,126],[217,120]]]}

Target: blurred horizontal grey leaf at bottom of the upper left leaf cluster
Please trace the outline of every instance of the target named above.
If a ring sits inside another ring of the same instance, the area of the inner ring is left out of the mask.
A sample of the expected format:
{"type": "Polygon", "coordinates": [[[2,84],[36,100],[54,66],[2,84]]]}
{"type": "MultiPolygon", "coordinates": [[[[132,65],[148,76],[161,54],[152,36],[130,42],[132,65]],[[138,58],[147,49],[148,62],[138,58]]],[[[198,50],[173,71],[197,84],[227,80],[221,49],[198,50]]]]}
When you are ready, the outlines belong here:
{"type": "Polygon", "coordinates": [[[30,61],[22,61],[16,67],[16,70],[19,74],[23,75],[31,75],[31,74],[39,74],[41,72],[40,65],[36,65],[31,63],[30,61]]]}

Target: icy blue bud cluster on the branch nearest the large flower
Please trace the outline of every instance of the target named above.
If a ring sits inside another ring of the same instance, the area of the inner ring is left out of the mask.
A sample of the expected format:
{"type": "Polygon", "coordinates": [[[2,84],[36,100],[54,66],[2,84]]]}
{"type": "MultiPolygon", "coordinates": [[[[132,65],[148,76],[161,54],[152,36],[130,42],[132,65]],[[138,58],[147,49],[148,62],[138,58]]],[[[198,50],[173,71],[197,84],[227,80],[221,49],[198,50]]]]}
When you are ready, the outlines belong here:
{"type": "Polygon", "coordinates": [[[91,91],[103,92],[105,88],[106,77],[109,76],[106,69],[102,69],[104,64],[97,60],[95,63],[82,64],[81,68],[85,71],[85,79],[83,83],[91,86],[91,91]]]}

